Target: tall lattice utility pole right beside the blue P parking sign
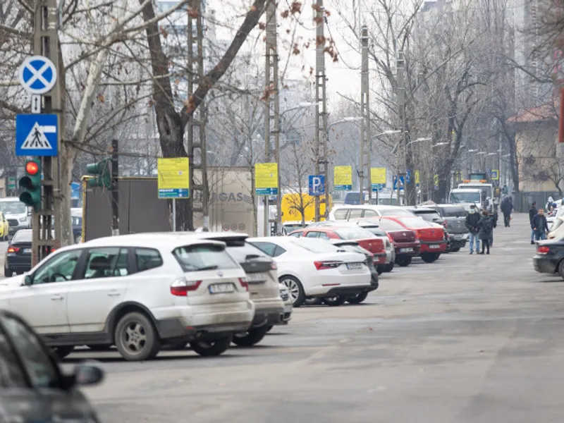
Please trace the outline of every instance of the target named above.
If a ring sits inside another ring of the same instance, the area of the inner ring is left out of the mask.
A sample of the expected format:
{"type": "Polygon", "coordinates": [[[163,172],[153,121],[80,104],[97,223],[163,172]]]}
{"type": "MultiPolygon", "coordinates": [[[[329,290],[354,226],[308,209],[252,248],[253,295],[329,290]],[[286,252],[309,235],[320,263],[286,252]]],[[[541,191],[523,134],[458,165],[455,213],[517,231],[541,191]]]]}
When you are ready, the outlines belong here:
{"type": "Polygon", "coordinates": [[[317,0],[315,11],[315,174],[325,177],[325,212],[321,216],[321,201],[319,196],[315,197],[315,221],[319,222],[321,217],[327,219],[329,213],[329,178],[327,172],[327,94],[325,78],[325,16],[323,0],[317,0]],[[321,110],[319,107],[321,104],[321,110]]]}

